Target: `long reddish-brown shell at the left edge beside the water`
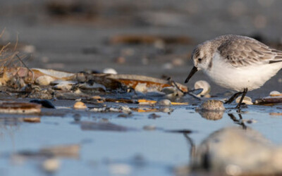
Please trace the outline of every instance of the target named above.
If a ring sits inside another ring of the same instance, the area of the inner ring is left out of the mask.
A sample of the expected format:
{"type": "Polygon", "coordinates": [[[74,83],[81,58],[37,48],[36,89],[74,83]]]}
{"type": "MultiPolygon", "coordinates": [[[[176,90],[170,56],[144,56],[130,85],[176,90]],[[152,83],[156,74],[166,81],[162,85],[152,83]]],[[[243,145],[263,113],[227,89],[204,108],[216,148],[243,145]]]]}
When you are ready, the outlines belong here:
{"type": "Polygon", "coordinates": [[[37,103],[14,102],[14,101],[0,102],[0,113],[32,114],[32,113],[40,113],[40,112],[41,112],[41,105],[37,103]]]}

